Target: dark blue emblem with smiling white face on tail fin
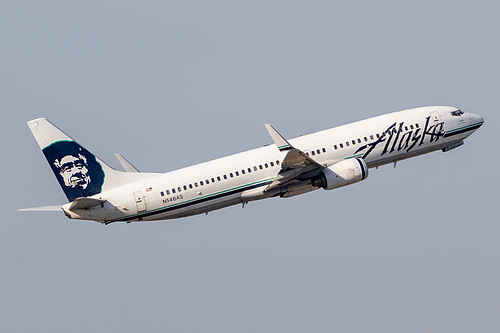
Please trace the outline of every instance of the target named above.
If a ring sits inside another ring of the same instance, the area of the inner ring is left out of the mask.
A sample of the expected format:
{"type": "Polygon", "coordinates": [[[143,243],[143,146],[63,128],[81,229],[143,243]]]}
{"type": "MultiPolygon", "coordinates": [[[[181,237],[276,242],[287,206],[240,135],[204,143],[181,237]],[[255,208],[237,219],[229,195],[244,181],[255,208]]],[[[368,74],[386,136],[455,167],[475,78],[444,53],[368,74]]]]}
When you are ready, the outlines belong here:
{"type": "Polygon", "coordinates": [[[101,193],[104,171],[88,150],[74,141],[60,141],[43,153],[69,201],[101,193]]]}

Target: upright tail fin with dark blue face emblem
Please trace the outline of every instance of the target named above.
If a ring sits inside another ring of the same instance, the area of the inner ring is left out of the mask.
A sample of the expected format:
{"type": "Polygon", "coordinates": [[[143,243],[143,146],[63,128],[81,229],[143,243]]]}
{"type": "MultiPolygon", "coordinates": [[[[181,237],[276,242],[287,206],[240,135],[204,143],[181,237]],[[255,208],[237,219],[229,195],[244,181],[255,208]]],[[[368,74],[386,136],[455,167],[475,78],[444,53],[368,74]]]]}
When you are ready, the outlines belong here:
{"type": "Polygon", "coordinates": [[[70,202],[154,175],[111,168],[45,118],[28,126],[70,202]]]}

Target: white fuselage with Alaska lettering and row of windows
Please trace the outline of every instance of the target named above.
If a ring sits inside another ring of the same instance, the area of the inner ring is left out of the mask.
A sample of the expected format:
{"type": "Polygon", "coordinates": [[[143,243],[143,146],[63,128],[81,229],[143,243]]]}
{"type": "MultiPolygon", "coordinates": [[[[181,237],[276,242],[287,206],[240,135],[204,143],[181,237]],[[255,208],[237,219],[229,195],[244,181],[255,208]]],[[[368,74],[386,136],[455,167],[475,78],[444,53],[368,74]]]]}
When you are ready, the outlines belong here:
{"type": "MultiPolygon", "coordinates": [[[[304,135],[289,143],[325,167],[362,158],[373,168],[451,147],[483,123],[481,117],[470,113],[452,115],[456,110],[436,106],[399,111],[304,135]]],[[[63,209],[71,218],[105,223],[151,221],[318,189],[304,177],[263,192],[280,171],[285,155],[272,144],[102,192],[94,197],[107,202],[81,213],[63,209]]]]}

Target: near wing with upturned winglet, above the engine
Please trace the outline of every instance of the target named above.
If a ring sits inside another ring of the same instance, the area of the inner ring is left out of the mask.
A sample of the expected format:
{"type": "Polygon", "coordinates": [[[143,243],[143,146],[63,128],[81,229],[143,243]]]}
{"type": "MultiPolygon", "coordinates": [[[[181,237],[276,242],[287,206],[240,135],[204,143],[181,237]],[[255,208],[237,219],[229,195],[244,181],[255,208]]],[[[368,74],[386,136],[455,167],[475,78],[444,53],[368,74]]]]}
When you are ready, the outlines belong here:
{"type": "Polygon", "coordinates": [[[313,160],[302,150],[294,148],[285,138],[281,136],[281,134],[278,133],[278,131],[274,129],[274,127],[269,124],[264,124],[264,126],[271,135],[271,138],[278,149],[281,152],[286,152],[286,156],[283,159],[283,162],[281,162],[280,171],[265,191],[282,186],[300,178],[300,176],[305,173],[309,173],[316,169],[323,169],[325,167],[313,160]]]}

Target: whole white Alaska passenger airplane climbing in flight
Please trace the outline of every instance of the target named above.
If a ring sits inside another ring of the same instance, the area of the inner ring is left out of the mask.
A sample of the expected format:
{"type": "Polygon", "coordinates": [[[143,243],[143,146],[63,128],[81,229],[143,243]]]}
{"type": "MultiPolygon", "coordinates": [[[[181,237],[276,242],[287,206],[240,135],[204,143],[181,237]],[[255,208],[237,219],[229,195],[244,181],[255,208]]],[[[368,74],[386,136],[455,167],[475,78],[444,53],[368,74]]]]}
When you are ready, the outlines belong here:
{"type": "Polygon", "coordinates": [[[451,106],[388,113],[287,140],[264,124],[273,144],[167,173],[139,172],[115,154],[113,169],[45,118],[28,126],[68,203],[20,211],[62,211],[70,219],[112,222],[181,218],[250,201],[289,198],[360,182],[368,170],[450,151],[484,123],[451,106]]]}

